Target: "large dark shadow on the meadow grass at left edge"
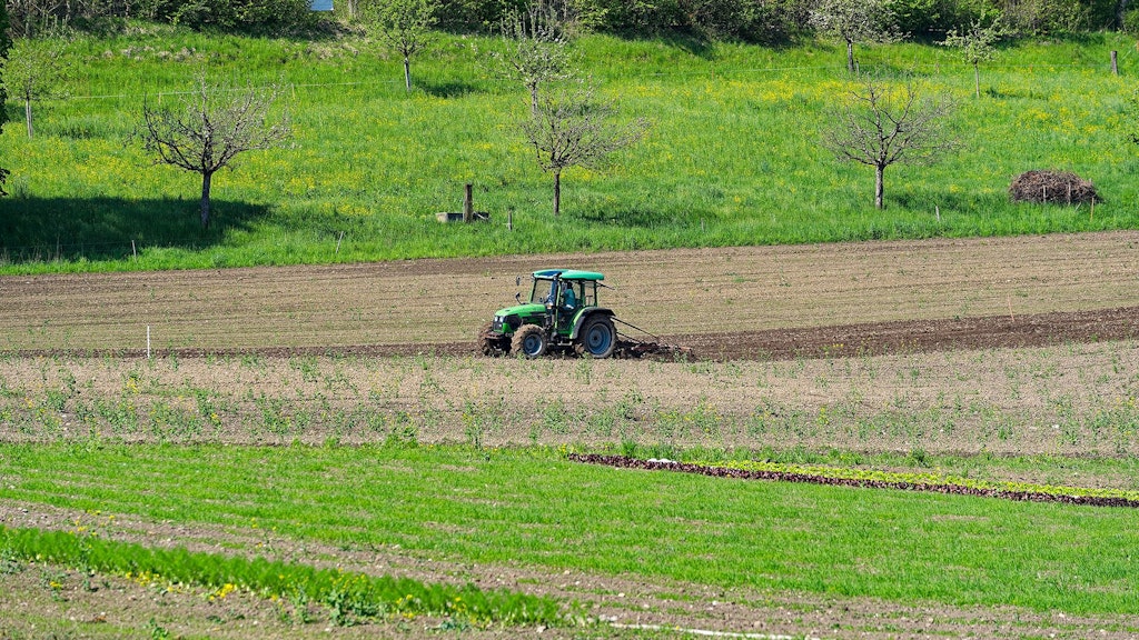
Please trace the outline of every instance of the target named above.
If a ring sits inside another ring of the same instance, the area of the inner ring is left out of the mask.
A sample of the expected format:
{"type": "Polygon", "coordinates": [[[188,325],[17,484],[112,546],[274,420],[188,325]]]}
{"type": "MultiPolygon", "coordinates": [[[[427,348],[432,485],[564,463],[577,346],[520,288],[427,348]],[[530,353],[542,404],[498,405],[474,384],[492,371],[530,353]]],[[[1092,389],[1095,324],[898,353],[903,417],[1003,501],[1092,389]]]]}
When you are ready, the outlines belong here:
{"type": "Polygon", "coordinates": [[[0,198],[0,257],[8,263],[122,260],[144,247],[199,249],[248,229],[263,205],[212,200],[210,229],[198,200],[122,198],[0,198]]]}

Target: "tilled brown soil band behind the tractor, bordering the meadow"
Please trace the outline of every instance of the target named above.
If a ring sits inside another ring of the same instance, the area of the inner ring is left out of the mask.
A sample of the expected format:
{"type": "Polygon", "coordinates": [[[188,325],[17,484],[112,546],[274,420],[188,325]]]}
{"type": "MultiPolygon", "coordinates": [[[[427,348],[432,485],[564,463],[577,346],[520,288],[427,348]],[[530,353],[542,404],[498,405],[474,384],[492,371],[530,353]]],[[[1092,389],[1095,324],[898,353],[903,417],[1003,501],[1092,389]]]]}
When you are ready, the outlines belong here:
{"type": "Polygon", "coordinates": [[[1137,247],[1122,231],[6,277],[0,351],[138,352],[149,326],[183,354],[469,353],[515,277],[551,265],[605,272],[618,317],[708,358],[1112,339],[1139,333],[1137,247]]]}

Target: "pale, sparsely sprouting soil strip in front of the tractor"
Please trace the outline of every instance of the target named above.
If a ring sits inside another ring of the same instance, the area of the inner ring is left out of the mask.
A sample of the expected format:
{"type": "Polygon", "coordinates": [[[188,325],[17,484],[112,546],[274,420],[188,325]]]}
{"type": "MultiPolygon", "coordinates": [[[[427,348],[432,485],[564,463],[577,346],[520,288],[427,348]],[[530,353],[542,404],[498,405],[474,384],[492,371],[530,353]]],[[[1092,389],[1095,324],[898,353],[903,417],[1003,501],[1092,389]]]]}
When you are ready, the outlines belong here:
{"type": "Polygon", "coordinates": [[[28,356],[0,364],[0,438],[1113,457],[1139,454],[1137,387],[1133,340],[729,362],[28,356]]]}

